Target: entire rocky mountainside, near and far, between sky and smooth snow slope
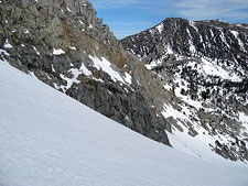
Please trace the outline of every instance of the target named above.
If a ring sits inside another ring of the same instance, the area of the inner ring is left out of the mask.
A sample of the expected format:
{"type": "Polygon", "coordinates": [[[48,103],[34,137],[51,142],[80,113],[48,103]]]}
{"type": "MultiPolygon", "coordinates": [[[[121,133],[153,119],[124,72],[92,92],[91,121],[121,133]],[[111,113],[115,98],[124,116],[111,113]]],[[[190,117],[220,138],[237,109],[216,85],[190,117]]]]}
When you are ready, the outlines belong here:
{"type": "Polygon", "coordinates": [[[247,25],[175,20],[122,41],[147,69],[88,0],[0,1],[0,59],[154,141],[246,162],[247,25]]]}

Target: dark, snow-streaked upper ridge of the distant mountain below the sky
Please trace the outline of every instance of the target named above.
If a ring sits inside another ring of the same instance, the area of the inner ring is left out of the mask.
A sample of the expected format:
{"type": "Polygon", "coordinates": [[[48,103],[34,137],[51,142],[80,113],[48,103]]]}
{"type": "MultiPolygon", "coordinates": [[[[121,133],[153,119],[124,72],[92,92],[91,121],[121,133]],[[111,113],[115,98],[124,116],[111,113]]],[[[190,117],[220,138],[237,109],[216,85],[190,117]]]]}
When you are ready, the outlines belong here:
{"type": "Polygon", "coordinates": [[[126,50],[139,55],[148,64],[164,56],[168,47],[171,47],[183,56],[206,56],[222,63],[237,61],[247,69],[247,31],[246,24],[166,19],[157,26],[121,42],[126,50]]]}

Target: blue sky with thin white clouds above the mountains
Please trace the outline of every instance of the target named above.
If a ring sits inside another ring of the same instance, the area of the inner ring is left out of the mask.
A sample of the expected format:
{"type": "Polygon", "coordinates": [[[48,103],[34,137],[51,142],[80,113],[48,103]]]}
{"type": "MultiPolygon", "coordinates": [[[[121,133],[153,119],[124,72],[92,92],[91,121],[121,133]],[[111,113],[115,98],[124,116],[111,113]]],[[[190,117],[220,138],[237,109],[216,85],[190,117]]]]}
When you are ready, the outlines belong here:
{"type": "Polygon", "coordinates": [[[165,18],[220,19],[248,23],[248,0],[89,0],[97,17],[118,39],[159,24],[165,18]]]}

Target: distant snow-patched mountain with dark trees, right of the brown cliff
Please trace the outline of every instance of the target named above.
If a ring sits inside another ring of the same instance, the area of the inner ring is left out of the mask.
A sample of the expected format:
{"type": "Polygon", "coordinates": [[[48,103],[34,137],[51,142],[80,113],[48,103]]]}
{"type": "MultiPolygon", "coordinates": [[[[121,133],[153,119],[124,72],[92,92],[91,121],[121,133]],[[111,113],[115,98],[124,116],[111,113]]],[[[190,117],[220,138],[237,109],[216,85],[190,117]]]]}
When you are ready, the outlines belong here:
{"type": "Polygon", "coordinates": [[[121,43],[164,85],[171,99],[161,112],[174,135],[205,139],[226,158],[248,160],[247,24],[165,19],[121,43]]]}

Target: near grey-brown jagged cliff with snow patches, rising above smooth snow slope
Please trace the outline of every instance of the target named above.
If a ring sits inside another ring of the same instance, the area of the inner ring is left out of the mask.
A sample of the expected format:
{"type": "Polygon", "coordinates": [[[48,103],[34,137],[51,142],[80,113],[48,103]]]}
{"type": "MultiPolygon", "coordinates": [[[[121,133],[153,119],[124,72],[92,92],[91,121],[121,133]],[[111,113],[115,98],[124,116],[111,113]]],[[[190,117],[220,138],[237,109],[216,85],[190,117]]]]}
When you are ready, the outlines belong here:
{"type": "Polygon", "coordinates": [[[170,145],[170,124],[157,109],[162,84],[122,51],[87,0],[0,1],[0,58],[170,145]]]}

